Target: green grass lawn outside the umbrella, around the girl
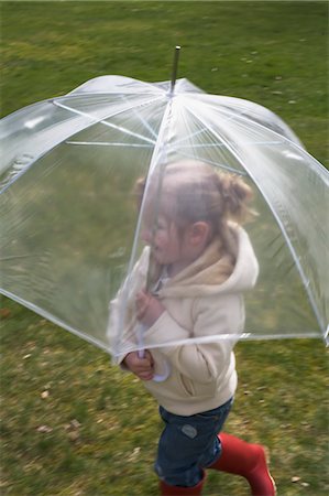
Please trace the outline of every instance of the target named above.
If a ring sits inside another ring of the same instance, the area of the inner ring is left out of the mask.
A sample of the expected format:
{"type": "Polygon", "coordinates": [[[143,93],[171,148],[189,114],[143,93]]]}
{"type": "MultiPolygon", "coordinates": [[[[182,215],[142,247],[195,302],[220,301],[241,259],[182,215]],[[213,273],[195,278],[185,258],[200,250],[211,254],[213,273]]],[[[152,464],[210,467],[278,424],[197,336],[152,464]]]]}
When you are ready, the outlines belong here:
{"type": "MultiPolygon", "coordinates": [[[[326,2],[1,2],[2,115],[92,77],[179,76],[283,117],[328,166],[326,2]]],[[[156,405],[109,357],[7,299],[3,495],[153,496],[156,405]]],[[[240,343],[228,430],[271,449],[278,494],[325,496],[328,362],[319,341],[240,343]],[[295,482],[293,482],[295,481],[295,482]]],[[[209,474],[206,496],[248,494],[209,474]]]]}

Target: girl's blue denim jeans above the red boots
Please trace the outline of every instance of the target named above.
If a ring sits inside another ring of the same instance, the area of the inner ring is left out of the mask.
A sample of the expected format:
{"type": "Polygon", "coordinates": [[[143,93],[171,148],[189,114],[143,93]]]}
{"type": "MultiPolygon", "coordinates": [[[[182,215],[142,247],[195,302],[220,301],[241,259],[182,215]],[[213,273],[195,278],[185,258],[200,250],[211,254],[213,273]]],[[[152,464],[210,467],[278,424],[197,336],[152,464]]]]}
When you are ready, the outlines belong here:
{"type": "Polygon", "coordinates": [[[191,487],[202,478],[202,468],[221,453],[218,433],[231,410],[233,398],[213,410],[180,417],[160,407],[165,428],[158,441],[155,472],[171,486],[191,487]]]}

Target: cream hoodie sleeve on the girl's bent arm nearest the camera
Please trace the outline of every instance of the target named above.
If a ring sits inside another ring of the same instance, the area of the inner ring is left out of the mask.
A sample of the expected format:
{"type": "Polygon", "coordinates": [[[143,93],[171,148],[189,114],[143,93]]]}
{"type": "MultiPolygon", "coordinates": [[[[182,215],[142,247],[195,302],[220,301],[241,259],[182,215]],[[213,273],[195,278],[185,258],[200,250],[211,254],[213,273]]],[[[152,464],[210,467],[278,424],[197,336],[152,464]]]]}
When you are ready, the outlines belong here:
{"type": "Polygon", "coordinates": [[[218,295],[197,299],[193,305],[193,320],[195,324],[190,333],[165,311],[147,331],[146,345],[158,345],[161,336],[164,343],[161,352],[179,373],[201,384],[220,379],[244,327],[242,295],[237,293],[220,299],[218,295]],[[190,338],[200,342],[183,344],[184,339],[190,338]]]}

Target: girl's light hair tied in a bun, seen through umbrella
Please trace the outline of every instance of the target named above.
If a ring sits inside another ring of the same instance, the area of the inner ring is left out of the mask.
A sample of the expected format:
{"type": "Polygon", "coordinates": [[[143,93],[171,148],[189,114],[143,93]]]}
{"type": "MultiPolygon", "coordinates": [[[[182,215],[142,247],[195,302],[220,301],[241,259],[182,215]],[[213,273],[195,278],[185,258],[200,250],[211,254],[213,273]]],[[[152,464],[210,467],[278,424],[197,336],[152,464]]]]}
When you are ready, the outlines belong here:
{"type": "MultiPolygon", "coordinates": [[[[140,201],[145,184],[145,179],[138,181],[140,201]]],[[[174,222],[180,231],[196,222],[206,222],[211,227],[211,239],[220,236],[235,258],[237,241],[228,223],[242,224],[254,214],[249,206],[253,192],[240,176],[218,172],[204,162],[174,162],[164,165],[162,172],[150,180],[147,196],[149,192],[154,208],[174,222]]]]}

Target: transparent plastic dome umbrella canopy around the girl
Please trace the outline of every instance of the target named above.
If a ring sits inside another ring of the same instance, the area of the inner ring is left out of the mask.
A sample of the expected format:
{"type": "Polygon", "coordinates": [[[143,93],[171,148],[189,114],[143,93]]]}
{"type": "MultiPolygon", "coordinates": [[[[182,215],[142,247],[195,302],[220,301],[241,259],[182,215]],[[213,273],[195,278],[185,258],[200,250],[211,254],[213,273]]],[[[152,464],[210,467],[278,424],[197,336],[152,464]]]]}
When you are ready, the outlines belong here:
{"type": "Polygon", "coordinates": [[[0,139],[2,294],[119,354],[109,302],[144,246],[134,185],[196,161],[255,194],[260,276],[237,336],[328,333],[329,174],[264,107],[187,79],[103,76],[6,117],[0,139]]]}

